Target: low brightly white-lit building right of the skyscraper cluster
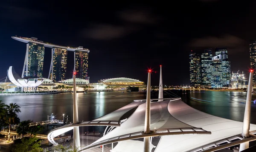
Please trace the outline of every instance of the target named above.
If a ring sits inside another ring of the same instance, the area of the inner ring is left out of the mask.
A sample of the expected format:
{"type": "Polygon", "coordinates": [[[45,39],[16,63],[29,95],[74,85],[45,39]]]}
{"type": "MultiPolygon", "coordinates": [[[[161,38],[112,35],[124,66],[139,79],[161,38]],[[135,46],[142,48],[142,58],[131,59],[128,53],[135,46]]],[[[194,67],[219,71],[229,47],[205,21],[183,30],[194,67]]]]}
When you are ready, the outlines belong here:
{"type": "Polygon", "coordinates": [[[246,88],[247,82],[244,72],[242,72],[242,74],[240,74],[239,71],[237,73],[232,73],[230,84],[233,89],[246,88]]]}

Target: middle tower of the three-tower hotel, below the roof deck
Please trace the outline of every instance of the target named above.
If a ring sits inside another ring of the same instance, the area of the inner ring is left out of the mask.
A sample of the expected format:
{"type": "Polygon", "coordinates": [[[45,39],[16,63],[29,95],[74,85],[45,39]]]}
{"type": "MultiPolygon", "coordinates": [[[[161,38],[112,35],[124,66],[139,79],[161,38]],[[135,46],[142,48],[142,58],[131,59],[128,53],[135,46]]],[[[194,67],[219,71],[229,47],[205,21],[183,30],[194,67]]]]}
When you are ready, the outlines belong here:
{"type": "Polygon", "coordinates": [[[53,82],[65,79],[67,71],[67,50],[61,48],[52,48],[53,65],[52,77],[53,82]]]}

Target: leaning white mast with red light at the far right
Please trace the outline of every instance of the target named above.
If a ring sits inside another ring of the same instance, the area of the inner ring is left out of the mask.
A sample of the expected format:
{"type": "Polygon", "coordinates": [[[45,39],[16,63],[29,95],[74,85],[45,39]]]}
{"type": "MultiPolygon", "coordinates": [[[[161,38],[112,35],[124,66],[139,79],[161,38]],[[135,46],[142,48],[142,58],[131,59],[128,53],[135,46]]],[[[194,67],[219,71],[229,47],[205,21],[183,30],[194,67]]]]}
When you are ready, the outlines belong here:
{"type": "MultiPolygon", "coordinates": [[[[243,121],[243,129],[242,129],[242,137],[249,138],[250,137],[250,112],[251,112],[251,99],[252,99],[252,82],[253,82],[253,70],[250,70],[249,83],[247,89],[245,110],[244,110],[244,121],[243,121]]],[[[249,141],[240,144],[239,152],[244,149],[249,148],[249,141]]]]}

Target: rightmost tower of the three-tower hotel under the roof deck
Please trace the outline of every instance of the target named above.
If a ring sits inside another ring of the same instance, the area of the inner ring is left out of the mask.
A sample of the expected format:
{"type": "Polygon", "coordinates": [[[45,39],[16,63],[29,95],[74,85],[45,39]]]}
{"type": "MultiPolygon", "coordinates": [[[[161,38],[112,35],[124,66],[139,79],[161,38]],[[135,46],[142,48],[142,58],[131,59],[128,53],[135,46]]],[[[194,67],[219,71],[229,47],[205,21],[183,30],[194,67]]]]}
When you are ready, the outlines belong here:
{"type": "Polygon", "coordinates": [[[76,78],[87,80],[88,73],[88,51],[75,52],[76,78]]]}

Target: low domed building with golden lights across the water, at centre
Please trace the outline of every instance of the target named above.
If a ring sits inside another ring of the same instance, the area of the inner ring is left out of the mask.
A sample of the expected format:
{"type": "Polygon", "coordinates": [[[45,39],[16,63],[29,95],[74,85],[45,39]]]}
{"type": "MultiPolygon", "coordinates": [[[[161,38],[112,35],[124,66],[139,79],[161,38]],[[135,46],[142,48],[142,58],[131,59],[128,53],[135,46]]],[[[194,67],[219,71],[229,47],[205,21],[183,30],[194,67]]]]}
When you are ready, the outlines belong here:
{"type": "Polygon", "coordinates": [[[128,86],[145,88],[144,82],[124,77],[103,79],[99,80],[99,83],[105,84],[108,88],[113,88],[116,90],[125,90],[128,86]]]}

